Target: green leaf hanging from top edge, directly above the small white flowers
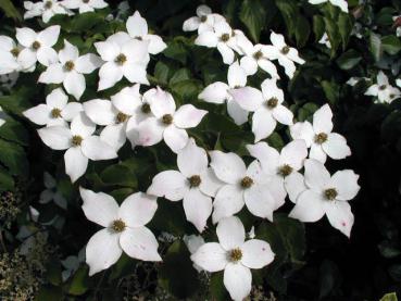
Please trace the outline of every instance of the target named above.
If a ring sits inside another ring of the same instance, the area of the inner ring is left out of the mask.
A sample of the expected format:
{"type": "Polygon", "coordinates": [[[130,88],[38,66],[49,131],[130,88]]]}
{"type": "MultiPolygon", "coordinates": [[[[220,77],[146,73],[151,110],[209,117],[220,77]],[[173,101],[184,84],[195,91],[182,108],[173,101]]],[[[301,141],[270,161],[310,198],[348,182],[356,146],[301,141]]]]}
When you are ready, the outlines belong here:
{"type": "Polygon", "coordinates": [[[242,1],[239,20],[247,26],[251,39],[259,42],[266,20],[266,12],[262,2],[260,0],[242,1]]]}

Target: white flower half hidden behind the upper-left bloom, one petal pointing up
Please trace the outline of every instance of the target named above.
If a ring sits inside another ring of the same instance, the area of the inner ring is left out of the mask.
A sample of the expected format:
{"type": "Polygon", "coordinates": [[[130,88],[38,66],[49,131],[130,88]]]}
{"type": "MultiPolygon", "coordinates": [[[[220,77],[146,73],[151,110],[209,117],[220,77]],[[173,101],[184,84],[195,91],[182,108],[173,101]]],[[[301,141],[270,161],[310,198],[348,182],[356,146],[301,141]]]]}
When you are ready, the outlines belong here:
{"type": "Polygon", "coordinates": [[[148,34],[148,23],[138,11],[128,17],[126,26],[131,38],[149,41],[148,50],[150,54],[158,54],[167,47],[161,37],[148,34]]]}

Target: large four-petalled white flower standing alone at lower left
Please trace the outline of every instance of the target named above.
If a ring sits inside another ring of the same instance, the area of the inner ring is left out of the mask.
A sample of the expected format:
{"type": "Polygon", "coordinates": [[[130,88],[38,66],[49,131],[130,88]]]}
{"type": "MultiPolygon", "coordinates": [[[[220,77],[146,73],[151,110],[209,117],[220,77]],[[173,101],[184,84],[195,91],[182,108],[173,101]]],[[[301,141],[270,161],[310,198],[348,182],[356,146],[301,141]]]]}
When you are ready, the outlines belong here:
{"type": "Polygon", "coordinates": [[[86,217],[104,227],[86,246],[89,276],[117,262],[123,251],[142,261],[161,261],[158,240],[145,227],[158,209],[156,199],[142,192],[127,197],[118,206],[113,197],[79,188],[86,217]]]}

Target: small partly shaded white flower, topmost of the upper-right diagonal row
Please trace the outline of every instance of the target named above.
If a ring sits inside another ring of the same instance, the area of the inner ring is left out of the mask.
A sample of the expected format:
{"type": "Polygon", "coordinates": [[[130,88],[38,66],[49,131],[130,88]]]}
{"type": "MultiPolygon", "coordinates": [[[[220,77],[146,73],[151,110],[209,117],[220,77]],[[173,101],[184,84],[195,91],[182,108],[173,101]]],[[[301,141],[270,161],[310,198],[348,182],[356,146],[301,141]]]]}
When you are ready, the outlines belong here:
{"type": "Polygon", "coordinates": [[[197,8],[197,16],[187,18],[183,24],[183,30],[193,32],[198,29],[198,34],[211,32],[216,20],[223,21],[224,17],[213,14],[208,5],[199,5],[197,8]]]}

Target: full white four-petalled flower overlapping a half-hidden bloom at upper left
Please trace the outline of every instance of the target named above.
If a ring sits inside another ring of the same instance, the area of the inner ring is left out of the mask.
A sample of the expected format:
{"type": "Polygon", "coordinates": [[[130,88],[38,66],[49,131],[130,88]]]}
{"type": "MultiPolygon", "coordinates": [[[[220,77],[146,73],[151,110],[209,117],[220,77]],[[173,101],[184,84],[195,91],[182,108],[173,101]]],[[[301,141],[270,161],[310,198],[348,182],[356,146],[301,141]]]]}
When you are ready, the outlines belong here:
{"type": "Polygon", "coordinates": [[[133,40],[124,34],[117,33],[105,41],[95,43],[98,53],[105,61],[99,71],[99,91],[113,87],[123,76],[130,83],[149,85],[147,78],[147,65],[150,60],[149,42],[133,40]]]}

